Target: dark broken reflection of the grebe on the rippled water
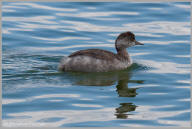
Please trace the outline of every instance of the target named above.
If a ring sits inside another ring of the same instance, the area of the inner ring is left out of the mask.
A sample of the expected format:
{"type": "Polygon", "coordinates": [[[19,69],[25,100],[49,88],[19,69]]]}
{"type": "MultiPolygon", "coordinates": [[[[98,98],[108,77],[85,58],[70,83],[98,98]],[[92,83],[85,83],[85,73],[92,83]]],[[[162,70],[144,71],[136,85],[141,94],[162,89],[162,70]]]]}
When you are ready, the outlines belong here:
{"type": "MultiPolygon", "coordinates": [[[[133,64],[130,68],[123,71],[103,72],[103,73],[80,73],[80,72],[67,72],[67,79],[73,85],[80,86],[112,86],[115,83],[116,91],[119,97],[136,97],[138,88],[129,88],[129,83],[142,84],[143,80],[130,80],[137,64],[133,64]]],[[[120,103],[120,107],[116,108],[115,116],[118,119],[127,119],[128,112],[135,111],[136,105],[133,103],[120,103]]]]}

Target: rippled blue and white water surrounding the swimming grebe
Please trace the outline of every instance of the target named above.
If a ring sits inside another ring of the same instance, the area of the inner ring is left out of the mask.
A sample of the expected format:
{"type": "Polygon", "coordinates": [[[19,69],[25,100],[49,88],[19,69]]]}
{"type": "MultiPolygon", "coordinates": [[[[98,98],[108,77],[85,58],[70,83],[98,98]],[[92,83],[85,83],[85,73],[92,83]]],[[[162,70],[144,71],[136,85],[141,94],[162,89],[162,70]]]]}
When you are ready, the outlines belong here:
{"type": "Polygon", "coordinates": [[[3,2],[4,127],[190,126],[190,2],[3,2]],[[63,56],[116,52],[132,31],[133,65],[61,73],[63,56]]]}

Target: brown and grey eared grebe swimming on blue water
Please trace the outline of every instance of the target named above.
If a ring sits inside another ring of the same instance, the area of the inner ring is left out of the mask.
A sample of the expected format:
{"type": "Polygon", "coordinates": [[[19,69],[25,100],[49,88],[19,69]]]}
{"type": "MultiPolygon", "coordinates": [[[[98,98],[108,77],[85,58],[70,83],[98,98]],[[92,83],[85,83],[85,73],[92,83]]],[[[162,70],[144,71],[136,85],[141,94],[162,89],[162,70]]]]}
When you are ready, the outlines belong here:
{"type": "Polygon", "coordinates": [[[143,45],[135,40],[132,32],[121,33],[116,41],[117,54],[101,49],[86,49],[62,58],[59,64],[61,71],[74,72],[109,72],[129,67],[132,62],[126,48],[143,45]]]}

